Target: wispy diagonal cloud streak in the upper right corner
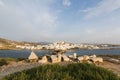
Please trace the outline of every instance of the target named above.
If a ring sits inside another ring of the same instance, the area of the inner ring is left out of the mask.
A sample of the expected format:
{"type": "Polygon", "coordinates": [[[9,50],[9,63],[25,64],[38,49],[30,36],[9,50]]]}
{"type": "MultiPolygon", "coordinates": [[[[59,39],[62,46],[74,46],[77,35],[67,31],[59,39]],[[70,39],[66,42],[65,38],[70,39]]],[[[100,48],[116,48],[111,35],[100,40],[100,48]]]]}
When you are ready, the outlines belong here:
{"type": "Polygon", "coordinates": [[[99,15],[109,14],[120,9],[120,0],[101,0],[95,7],[83,10],[85,18],[93,18],[99,15]]]}

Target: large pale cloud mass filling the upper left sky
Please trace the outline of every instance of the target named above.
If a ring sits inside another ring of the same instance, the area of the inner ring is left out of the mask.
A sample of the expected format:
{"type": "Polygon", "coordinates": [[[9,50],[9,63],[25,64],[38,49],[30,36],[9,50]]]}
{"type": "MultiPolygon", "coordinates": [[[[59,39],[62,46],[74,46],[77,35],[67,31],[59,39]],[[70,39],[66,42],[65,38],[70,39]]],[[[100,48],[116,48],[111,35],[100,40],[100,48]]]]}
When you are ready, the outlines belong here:
{"type": "Polygon", "coordinates": [[[53,0],[0,0],[0,36],[17,40],[45,40],[53,34],[57,14],[53,0]]]}

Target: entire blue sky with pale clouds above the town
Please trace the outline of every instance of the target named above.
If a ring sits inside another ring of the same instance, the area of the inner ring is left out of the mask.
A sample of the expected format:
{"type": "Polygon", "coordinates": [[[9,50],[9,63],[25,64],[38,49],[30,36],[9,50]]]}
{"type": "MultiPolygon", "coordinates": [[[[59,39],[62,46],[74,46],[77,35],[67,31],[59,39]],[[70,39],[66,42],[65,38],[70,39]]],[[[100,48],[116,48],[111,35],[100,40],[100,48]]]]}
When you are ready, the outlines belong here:
{"type": "Polygon", "coordinates": [[[0,0],[0,37],[120,44],[120,0],[0,0]]]}

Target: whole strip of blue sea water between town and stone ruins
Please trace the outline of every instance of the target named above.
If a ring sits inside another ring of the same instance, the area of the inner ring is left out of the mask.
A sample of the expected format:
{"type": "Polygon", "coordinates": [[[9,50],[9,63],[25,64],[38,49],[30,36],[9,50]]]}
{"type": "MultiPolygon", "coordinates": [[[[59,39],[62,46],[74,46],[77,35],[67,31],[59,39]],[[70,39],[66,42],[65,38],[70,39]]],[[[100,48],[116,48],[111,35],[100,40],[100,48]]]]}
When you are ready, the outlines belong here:
{"type": "MultiPolygon", "coordinates": [[[[51,54],[52,50],[37,50],[34,51],[37,56],[43,56],[46,54],[51,54]]],[[[11,57],[11,58],[27,58],[31,53],[31,50],[0,50],[0,57],[11,57]]],[[[120,55],[120,50],[70,50],[65,53],[66,55],[77,53],[77,55],[91,55],[91,54],[101,54],[101,55],[120,55]]]]}

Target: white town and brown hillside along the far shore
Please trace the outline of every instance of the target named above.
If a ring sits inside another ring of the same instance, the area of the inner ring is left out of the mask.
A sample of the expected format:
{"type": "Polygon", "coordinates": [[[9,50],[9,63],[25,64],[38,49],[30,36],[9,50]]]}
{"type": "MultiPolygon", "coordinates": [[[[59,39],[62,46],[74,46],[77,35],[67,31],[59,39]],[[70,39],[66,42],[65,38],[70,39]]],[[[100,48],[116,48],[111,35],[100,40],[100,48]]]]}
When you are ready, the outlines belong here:
{"type": "Polygon", "coordinates": [[[18,42],[0,38],[0,49],[30,49],[30,50],[69,50],[69,49],[120,49],[113,44],[75,44],[65,41],[54,43],[18,42]]]}

